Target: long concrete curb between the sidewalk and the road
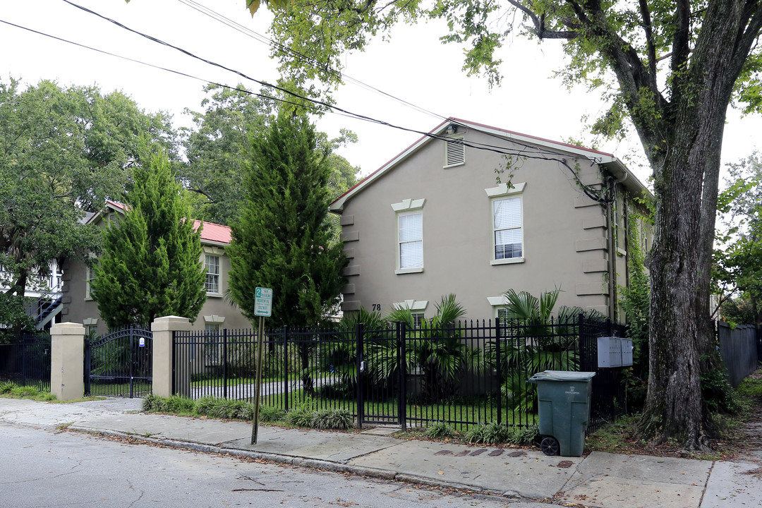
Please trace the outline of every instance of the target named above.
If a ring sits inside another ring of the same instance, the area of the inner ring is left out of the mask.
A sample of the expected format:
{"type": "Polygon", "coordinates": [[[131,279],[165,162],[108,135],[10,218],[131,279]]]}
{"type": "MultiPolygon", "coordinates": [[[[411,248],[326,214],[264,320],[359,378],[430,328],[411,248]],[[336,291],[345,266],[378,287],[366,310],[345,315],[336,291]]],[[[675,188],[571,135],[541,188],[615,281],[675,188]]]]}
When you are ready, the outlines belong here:
{"type": "Polygon", "coordinates": [[[513,490],[490,490],[480,487],[474,487],[472,485],[458,484],[447,481],[437,481],[433,478],[424,476],[418,476],[415,474],[402,474],[396,471],[389,471],[388,469],[378,468],[366,468],[362,466],[353,466],[347,464],[341,464],[338,462],[330,462],[320,460],[319,458],[303,458],[295,457],[291,455],[277,455],[274,453],[265,452],[251,452],[248,450],[225,448],[223,446],[206,445],[203,443],[192,443],[190,441],[180,441],[178,439],[157,439],[150,436],[141,436],[140,434],[125,433],[119,430],[101,430],[94,429],[92,427],[80,427],[76,425],[69,426],[67,430],[74,432],[81,432],[87,434],[93,434],[94,436],[108,436],[108,437],[120,437],[130,438],[143,441],[145,443],[151,443],[154,445],[166,446],[174,449],[191,450],[193,452],[204,453],[217,453],[220,455],[230,455],[232,457],[250,458],[252,460],[262,460],[266,462],[273,462],[276,464],[293,465],[299,468],[319,469],[322,471],[332,471],[342,474],[354,474],[357,476],[364,476],[367,478],[378,478],[379,480],[387,481],[399,481],[406,484],[425,485],[427,487],[437,487],[443,489],[455,489],[473,492],[475,494],[482,494],[485,496],[506,497],[514,500],[530,500],[527,497],[521,497],[517,492],[513,490]]]}

